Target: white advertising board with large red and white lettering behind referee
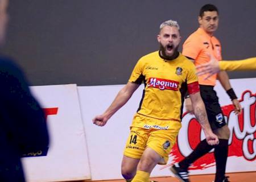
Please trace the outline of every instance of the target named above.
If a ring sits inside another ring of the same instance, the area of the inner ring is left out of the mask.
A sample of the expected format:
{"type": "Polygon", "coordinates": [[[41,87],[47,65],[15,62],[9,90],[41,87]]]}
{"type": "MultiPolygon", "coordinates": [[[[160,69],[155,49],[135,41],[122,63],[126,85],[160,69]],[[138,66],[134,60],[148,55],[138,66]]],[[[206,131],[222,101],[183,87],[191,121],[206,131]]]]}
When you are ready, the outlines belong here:
{"type": "MultiPolygon", "coordinates": [[[[228,121],[228,126],[232,131],[232,137],[229,139],[229,157],[226,171],[255,171],[256,78],[236,79],[231,80],[231,83],[243,107],[243,113],[240,116],[234,114],[233,107],[230,105],[232,102],[219,83],[215,88],[220,98],[226,121],[228,121]]],[[[92,118],[106,110],[123,86],[78,87],[92,180],[122,179],[122,152],[129,134],[131,119],[139,106],[139,101],[141,101],[143,85],[139,87],[127,104],[110,118],[106,126],[98,127],[93,125],[92,118]]],[[[193,115],[184,111],[182,123],[183,127],[181,127],[177,138],[177,144],[170,154],[168,164],[166,166],[157,166],[152,171],[151,177],[170,176],[171,173],[167,167],[183,159],[195,148],[200,139],[204,138],[203,132],[201,132],[200,126],[193,115]]],[[[213,154],[207,154],[197,160],[191,170],[191,174],[214,172],[213,154]]]]}

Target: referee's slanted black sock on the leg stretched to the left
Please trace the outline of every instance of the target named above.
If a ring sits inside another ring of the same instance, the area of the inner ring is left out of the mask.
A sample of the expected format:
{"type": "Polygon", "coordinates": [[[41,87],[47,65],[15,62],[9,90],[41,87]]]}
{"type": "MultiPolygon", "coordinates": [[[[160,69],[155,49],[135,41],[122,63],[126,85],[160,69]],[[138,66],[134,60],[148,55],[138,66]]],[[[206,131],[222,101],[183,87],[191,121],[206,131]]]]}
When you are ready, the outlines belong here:
{"type": "Polygon", "coordinates": [[[206,139],[202,140],[190,155],[179,162],[179,166],[183,169],[187,169],[190,164],[201,158],[201,156],[207,154],[213,147],[214,146],[210,146],[207,143],[206,139]]]}

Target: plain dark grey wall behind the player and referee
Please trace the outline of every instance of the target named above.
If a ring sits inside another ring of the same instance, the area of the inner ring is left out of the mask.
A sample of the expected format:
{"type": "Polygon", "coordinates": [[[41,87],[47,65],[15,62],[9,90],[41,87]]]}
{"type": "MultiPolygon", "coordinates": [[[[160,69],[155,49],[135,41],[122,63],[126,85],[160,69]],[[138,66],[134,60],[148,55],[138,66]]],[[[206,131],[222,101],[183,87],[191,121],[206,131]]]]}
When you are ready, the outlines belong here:
{"type": "MultiPolygon", "coordinates": [[[[205,3],[220,10],[216,36],[223,58],[256,56],[254,0],[11,0],[2,52],[14,57],[31,85],[126,84],[139,57],[159,48],[160,23],[177,20],[184,42],[197,29],[205,3]]],[[[256,77],[256,72],[229,76],[256,77]]]]}

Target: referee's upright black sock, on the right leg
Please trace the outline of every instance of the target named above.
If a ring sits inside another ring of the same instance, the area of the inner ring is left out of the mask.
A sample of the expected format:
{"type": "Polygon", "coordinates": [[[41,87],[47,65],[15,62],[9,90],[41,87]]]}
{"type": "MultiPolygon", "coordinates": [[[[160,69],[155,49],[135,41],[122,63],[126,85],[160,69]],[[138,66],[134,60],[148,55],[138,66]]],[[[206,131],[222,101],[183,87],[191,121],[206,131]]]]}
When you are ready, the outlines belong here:
{"type": "Polygon", "coordinates": [[[227,139],[219,139],[220,143],[214,149],[214,157],[216,160],[215,181],[223,180],[226,171],[226,160],[228,159],[228,142],[227,139]]]}

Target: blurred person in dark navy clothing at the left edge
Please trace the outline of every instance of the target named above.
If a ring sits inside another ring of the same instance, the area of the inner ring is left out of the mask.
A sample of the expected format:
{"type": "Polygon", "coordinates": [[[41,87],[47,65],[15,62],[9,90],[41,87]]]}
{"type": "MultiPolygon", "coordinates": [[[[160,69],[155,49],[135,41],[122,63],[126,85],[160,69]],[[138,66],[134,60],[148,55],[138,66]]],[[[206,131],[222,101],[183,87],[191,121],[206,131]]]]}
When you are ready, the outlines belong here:
{"type": "MultiPolygon", "coordinates": [[[[0,46],[5,43],[8,3],[0,0],[0,46]]],[[[1,55],[0,84],[0,181],[25,181],[20,156],[48,147],[46,118],[20,68],[1,55]]]]}

